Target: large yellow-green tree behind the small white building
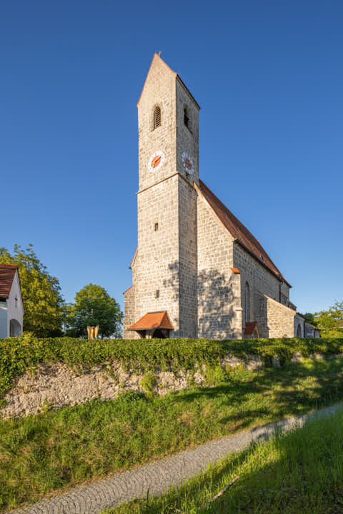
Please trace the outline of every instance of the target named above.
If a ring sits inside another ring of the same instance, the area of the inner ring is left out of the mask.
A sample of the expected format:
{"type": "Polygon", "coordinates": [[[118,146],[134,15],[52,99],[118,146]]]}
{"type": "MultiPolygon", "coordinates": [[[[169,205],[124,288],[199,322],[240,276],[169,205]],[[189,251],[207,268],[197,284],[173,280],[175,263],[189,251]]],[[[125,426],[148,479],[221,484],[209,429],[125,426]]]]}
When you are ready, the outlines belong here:
{"type": "Polygon", "coordinates": [[[61,335],[63,298],[56,277],[49,275],[30,244],[26,250],[14,245],[11,254],[0,248],[0,263],[18,266],[21,296],[24,303],[24,331],[38,337],[61,335]]]}

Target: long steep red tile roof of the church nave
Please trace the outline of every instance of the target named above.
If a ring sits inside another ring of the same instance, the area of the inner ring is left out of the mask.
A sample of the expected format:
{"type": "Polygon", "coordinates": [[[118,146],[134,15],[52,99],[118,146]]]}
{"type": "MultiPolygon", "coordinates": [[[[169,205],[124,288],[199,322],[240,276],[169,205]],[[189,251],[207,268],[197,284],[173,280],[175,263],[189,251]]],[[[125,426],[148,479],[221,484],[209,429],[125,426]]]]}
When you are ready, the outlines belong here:
{"type": "Polygon", "coordinates": [[[229,209],[224,206],[217,196],[212,193],[212,191],[204,184],[203,181],[200,181],[200,191],[204,198],[207,200],[209,205],[212,207],[214,212],[217,214],[220,221],[222,221],[223,225],[231,235],[237,239],[237,241],[247,250],[249,253],[252,253],[257,260],[262,263],[262,266],[269,268],[274,275],[278,278],[282,278],[284,282],[287,283],[288,286],[290,284],[286,281],[286,279],[282,276],[279,269],[273,263],[272,259],[268,256],[267,252],[262,248],[262,245],[257,241],[257,238],[254,238],[252,233],[239,221],[239,219],[234,216],[234,214],[229,211],[229,209]]]}

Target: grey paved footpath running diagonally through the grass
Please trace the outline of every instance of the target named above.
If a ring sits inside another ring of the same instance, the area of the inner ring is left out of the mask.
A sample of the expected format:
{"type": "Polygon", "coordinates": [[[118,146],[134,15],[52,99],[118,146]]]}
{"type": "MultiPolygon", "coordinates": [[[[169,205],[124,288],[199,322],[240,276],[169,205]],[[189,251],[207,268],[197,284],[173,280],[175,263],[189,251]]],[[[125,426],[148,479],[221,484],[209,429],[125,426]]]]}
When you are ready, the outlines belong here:
{"type": "Polygon", "coordinates": [[[334,413],[342,406],[343,403],[339,403],[297,418],[286,418],[277,423],[228,435],[192,450],[114,473],[104,480],[76,487],[68,493],[56,495],[29,507],[11,510],[11,514],[99,514],[133,498],[146,497],[148,489],[150,496],[159,496],[172,486],[177,486],[180,482],[197,475],[210,463],[216,463],[229,453],[247,447],[252,440],[265,440],[273,435],[275,430],[289,430],[294,425],[302,425],[305,420],[315,415],[322,417],[334,413]]]}

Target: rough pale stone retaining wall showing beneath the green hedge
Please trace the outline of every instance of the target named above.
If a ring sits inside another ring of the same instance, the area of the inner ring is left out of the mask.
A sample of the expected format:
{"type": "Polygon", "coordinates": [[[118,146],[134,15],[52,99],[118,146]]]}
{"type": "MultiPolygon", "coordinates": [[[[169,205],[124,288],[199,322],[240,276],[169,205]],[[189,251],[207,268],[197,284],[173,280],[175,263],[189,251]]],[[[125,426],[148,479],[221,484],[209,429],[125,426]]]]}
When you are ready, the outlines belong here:
{"type": "MultiPolygon", "coordinates": [[[[336,356],[341,357],[342,356],[336,356]]],[[[323,358],[316,354],[312,358],[323,358]]],[[[302,361],[299,353],[294,354],[293,362],[302,361]]],[[[243,361],[235,356],[227,356],[222,366],[244,365],[250,370],[261,368],[262,359],[249,356],[243,361]]],[[[279,360],[274,357],[274,367],[279,367],[279,360]]],[[[206,366],[194,371],[161,371],[155,368],[156,385],[154,392],[165,395],[170,391],[189,388],[191,385],[202,386],[206,383],[206,366]]],[[[22,417],[30,414],[44,413],[52,408],[76,405],[99,398],[111,400],[121,390],[144,392],[141,379],[144,373],[124,370],[119,361],[96,366],[89,371],[77,372],[63,363],[46,363],[28,371],[17,378],[14,387],[4,397],[6,405],[0,409],[0,418],[22,417]]]]}

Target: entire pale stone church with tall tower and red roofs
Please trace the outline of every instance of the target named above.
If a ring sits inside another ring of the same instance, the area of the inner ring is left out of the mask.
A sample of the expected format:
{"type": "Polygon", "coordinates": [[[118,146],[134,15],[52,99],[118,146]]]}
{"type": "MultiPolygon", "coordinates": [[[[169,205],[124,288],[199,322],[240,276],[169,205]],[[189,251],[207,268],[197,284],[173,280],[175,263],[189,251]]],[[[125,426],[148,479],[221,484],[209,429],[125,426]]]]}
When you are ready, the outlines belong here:
{"type": "Polygon", "coordinates": [[[309,336],[292,287],[199,177],[199,105],[154,54],[138,104],[138,245],[124,338],[309,336]]]}

